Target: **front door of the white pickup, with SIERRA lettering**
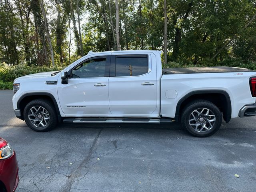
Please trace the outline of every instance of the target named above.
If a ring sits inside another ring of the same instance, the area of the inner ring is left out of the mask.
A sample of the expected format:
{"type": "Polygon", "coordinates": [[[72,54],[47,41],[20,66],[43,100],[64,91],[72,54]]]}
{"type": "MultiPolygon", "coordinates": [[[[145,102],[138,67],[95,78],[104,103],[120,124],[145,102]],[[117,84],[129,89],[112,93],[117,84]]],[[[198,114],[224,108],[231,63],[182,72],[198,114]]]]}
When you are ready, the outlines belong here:
{"type": "Polygon", "coordinates": [[[89,58],[72,68],[68,84],[58,81],[58,98],[67,117],[100,117],[110,114],[109,63],[110,56],[89,58]]]}

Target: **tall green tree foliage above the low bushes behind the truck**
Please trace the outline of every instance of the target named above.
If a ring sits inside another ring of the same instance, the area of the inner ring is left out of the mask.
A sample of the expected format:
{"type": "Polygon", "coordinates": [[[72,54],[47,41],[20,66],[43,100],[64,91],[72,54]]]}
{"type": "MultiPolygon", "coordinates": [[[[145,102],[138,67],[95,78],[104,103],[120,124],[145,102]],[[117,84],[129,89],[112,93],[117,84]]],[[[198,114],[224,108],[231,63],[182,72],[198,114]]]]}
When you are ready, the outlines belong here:
{"type": "MultiPolygon", "coordinates": [[[[4,0],[0,3],[0,63],[50,65],[51,53],[39,2],[4,0]]],[[[255,0],[166,2],[168,61],[182,66],[231,62],[253,68],[255,0]]],[[[121,50],[163,50],[164,0],[118,0],[118,3],[121,50]]],[[[77,22],[77,12],[85,54],[90,50],[116,50],[115,0],[44,0],[44,6],[56,65],[65,66],[80,57],[73,24],[73,20],[77,22]]]]}

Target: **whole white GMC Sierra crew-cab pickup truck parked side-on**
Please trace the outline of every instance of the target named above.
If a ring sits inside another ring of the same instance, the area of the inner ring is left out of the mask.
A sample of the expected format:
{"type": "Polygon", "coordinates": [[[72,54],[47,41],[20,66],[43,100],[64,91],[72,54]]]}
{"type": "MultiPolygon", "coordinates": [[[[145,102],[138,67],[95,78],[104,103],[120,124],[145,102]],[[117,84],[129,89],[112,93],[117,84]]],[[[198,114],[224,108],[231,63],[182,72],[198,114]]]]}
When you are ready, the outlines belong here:
{"type": "Polygon", "coordinates": [[[192,135],[256,115],[256,71],[233,67],[162,69],[160,51],[89,52],[58,72],[16,78],[16,116],[35,131],[58,122],[169,123],[192,135]]]}

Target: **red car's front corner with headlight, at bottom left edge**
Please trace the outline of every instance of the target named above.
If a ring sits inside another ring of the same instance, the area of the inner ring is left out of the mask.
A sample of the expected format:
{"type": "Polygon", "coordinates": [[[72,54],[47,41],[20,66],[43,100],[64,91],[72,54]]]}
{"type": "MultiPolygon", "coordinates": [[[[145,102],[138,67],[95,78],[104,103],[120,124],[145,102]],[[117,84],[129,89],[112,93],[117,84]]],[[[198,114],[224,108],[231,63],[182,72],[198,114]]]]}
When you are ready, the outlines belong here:
{"type": "Polygon", "coordinates": [[[18,186],[18,162],[10,144],[0,138],[0,192],[14,192],[18,186]]]}

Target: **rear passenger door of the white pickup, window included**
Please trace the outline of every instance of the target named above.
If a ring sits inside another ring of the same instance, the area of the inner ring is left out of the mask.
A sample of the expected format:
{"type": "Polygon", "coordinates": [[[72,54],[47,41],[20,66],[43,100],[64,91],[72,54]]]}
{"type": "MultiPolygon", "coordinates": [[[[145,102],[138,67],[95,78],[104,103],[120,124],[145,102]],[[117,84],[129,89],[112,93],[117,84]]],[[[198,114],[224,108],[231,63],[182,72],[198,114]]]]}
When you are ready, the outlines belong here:
{"type": "Polygon", "coordinates": [[[108,82],[112,116],[149,117],[156,110],[156,67],[152,68],[151,57],[150,54],[112,54],[108,82]]]}

